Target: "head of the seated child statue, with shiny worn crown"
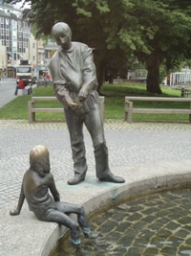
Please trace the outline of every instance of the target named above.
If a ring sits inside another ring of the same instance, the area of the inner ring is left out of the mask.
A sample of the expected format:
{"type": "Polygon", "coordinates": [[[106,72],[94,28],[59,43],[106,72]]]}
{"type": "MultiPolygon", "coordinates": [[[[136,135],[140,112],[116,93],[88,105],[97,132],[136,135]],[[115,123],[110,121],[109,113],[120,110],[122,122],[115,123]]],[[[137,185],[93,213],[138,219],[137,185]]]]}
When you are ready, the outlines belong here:
{"type": "Polygon", "coordinates": [[[49,151],[42,145],[35,146],[30,152],[30,169],[40,176],[50,173],[49,151]]]}

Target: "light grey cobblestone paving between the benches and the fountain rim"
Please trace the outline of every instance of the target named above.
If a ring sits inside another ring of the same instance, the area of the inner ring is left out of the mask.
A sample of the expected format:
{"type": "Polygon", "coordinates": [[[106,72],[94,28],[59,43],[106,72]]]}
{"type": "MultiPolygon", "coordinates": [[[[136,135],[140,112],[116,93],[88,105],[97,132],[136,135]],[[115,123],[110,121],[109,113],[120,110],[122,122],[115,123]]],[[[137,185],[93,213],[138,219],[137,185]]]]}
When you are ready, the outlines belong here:
{"type": "MultiPolygon", "coordinates": [[[[191,125],[132,123],[106,120],[105,136],[112,168],[160,160],[190,159],[191,125]]],[[[92,140],[84,128],[89,174],[95,174],[92,140]]],[[[29,167],[29,153],[38,144],[51,152],[55,180],[73,173],[69,134],[65,123],[0,120],[0,208],[18,198],[22,176],[29,167]]]]}

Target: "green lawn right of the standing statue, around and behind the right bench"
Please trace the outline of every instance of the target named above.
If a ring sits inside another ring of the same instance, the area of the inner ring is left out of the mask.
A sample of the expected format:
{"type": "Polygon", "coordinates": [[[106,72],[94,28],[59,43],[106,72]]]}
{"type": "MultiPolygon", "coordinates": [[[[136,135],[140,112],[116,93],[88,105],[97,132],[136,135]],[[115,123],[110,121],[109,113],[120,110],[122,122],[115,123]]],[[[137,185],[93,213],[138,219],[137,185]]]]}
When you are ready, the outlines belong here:
{"type": "MultiPolygon", "coordinates": [[[[104,84],[101,93],[105,97],[106,119],[124,118],[124,97],[180,97],[180,90],[162,87],[162,95],[151,94],[146,91],[146,85],[130,84],[104,84]]],[[[166,102],[134,102],[136,107],[158,107],[158,108],[189,108],[189,103],[166,103],[166,102]]],[[[142,122],[188,122],[188,115],[184,114],[134,114],[133,120],[142,122]]]]}

